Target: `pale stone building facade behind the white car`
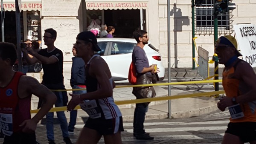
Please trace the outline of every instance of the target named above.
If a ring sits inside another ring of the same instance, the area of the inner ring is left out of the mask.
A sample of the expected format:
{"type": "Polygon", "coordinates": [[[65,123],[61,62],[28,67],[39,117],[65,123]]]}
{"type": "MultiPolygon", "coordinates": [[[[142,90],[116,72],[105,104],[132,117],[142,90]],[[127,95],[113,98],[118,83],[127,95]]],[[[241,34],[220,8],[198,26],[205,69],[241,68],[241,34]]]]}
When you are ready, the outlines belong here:
{"type": "MultiPolygon", "coordinates": [[[[196,46],[201,46],[209,52],[209,59],[211,59],[214,54],[214,33],[212,10],[210,10],[212,5],[208,4],[212,4],[213,0],[203,1],[203,5],[195,6],[195,37],[197,37],[195,42],[196,46]]],[[[233,25],[235,24],[256,23],[256,0],[233,0],[233,3],[236,3],[236,9],[226,18],[220,16],[225,23],[219,22],[218,37],[234,36],[233,25]]],[[[33,9],[40,12],[41,34],[47,28],[57,30],[55,46],[64,53],[64,72],[66,73],[70,73],[73,57],[71,51],[76,35],[87,30],[92,20],[98,21],[99,24],[106,23],[108,26],[114,26],[116,37],[131,37],[136,28],[145,29],[151,43],[159,49],[164,66],[168,65],[167,0],[41,0],[41,5],[30,4],[30,6],[40,7],[40,9],[33,9]]],[[[191,0],[170,0],[170,15],[171,66],[192,68],[191,0]]],[[[29,35],[29,31],[26,33],[29,35]]],[[[43,41],[42,46],[45,47],[43,41]]],[[[195,50],[196,60],[197,56],[198,53],[195,50]]],[[[209,66],[214,67],[213,64],[209,66]]],[[[65,77],[69,78],[69,76],[65,77]]]]}

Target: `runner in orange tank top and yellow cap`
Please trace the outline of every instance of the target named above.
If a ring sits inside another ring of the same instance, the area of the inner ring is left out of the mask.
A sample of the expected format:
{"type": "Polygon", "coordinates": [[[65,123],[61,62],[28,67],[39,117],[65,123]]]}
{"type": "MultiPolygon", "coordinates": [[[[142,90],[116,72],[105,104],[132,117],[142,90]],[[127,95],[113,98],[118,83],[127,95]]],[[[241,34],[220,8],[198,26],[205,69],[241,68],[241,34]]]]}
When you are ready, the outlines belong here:
{"type": "Polygon", "coordinates": [[[225,65],[222,85],[227,95],[217,106],[221,111],[228,107],[231,116],[222,144],[256,144],[256,75],[249,63],[238,58],[242,55],[235,37],[219,37],[215,53],[225,65]]]}

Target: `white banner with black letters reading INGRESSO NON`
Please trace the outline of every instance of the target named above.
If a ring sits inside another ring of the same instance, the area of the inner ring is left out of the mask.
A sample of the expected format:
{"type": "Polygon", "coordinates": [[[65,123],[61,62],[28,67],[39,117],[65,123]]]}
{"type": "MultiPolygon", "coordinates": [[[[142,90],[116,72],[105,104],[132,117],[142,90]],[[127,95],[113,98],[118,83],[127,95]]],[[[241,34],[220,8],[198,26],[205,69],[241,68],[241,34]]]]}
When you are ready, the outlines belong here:
{"type": "Polygon", "coordinates": [[[236,40],[239,43],[243,60],[250,63],[252,67],[256,66],[256,25],[239,24],[234,25],[236,40]]]}

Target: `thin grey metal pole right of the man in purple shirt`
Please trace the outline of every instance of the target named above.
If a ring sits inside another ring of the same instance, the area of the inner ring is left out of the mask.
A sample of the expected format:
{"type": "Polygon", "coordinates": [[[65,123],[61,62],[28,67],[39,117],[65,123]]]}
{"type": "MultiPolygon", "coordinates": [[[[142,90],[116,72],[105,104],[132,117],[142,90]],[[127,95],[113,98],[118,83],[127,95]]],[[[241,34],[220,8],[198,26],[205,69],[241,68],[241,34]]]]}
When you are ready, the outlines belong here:
{"type": "MultiPolygon", "coordinates": [[[[168,49],[168,83],[171,82],[171,50],[170,50],[170,0],[167,0],[167,49],[168,49]]],[[[171,86],[168,85],[168,95],[171,96],[171,86]]],[[[168,100],[168,118],[171,118],[171,100],[168,100]]]]}

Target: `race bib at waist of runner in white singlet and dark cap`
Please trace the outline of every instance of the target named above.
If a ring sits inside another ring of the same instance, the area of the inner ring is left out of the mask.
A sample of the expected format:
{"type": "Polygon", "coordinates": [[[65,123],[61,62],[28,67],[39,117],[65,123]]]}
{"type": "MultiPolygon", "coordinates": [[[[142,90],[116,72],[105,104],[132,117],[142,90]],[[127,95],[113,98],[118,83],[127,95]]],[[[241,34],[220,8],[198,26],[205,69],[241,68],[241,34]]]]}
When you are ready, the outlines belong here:
{"type": "Polygon", "coordinates": [[[83,103],[79,105],[81,109],[87,112],[90,118],[101,118],[101,112],[99,107],[97,106],[96,100],[83,101],[83,103]]]}

